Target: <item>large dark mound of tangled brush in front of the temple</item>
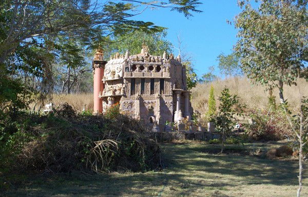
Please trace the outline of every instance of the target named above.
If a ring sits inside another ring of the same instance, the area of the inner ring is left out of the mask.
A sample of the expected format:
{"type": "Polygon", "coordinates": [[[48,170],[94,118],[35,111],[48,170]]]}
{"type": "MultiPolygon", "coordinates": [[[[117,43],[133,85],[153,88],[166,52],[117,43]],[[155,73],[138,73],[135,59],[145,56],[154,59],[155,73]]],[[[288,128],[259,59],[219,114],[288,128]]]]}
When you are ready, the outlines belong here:
{"type": "Polygon", "coordinates": [[[64,104],[49,115],[29,115],[14,167],[69,172],[146,171],[160,168],[160,147],[139,121],[118,113],[77,114],[64,104]]]}

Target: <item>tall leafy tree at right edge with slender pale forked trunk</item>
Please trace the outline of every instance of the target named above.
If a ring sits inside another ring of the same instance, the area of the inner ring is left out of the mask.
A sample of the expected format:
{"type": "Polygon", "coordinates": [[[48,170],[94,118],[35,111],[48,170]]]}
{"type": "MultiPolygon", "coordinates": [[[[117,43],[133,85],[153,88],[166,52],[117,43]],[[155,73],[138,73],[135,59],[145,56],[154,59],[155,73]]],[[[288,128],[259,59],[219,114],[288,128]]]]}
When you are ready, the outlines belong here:
{"type": "MultiPolygon", "coordinates": [[[[283,85],[296,85],[298,78],[308,80],[308,12],[307,1],[260,1],[253,9],[249,1],[240,1],[243,11],[236,17],[239,40],[235,47],[242,69],[248,78],[272,90],[278,87],[285,115],[300,144],[299,188],[302,187],[302,147],[307,131],[303,130],[303,101],[298,127],[290,117],[283,96],[283,85]]],[[[301,99],[301,98],[300,98],[301,99]]],[[[302,99],[301,99],[302,100],[302,99]]],[[[306,119],[305,119],[306,120],[306,119]]]]}

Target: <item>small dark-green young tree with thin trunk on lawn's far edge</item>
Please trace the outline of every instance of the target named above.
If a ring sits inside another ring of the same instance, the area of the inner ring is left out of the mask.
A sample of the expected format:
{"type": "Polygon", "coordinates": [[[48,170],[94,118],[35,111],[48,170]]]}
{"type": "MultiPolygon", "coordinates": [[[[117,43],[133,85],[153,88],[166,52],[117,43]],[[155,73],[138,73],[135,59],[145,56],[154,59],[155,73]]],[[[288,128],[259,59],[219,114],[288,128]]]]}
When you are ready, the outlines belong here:
{"type": "Polygon", "coordinates": [[[235,115],[242,115],[245,105],[240,103],[237,95],[230,95],[229,89],[226,87],[221,91],[221,96],[218,100],[219,112],[215,117],[215,126],[222,133],[220,151],[222,153],[226,134],[234,128],[235,115]]]}

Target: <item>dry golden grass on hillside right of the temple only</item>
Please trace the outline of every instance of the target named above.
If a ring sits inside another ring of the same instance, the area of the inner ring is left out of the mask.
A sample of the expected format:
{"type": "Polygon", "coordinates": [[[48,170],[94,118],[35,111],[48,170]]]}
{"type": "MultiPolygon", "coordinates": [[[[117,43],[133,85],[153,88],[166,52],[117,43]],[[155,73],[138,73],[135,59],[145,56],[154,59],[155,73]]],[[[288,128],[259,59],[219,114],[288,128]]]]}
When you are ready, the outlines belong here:
{"type": "MultiPolygon", "coordinates": [[[[268,93],[265,92],[265,88],[261,85],[252,85],[249,79],[245,77],[218,80],[211,84],[214,86],[216,99],[220,95],[222,89],[228,87],[231,94],[237,94],[251,109],[265,109],[267,106],[268,93]]],[[[201,114],[205,114],[208,110],[207,101],[209,89],[210,83],[203,83],[198,84],[191,90],[192,106],[201,114]]],[[[279,103],[277,89],[273,92],[273,95],[276,96],[276,103],[279,103]]],[[[308,96],[308,82],[305,80],[300,80],[297,86],[285,86],[284,97],[288,100],[293,109],[299,108],[300,95],[308,96]]]]}

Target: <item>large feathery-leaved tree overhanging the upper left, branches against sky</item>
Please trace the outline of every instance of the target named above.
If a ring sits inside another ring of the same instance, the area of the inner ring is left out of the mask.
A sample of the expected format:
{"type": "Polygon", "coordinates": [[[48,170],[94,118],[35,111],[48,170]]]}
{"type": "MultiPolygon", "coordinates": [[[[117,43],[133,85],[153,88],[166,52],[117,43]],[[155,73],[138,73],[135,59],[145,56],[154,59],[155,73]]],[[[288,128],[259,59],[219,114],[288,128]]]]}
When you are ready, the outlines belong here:
{"type": "MultiPolygon", "coordinates": [[[[6,71],[0,77],[7,74],[13,78],[23,77],[25,73],[35,78],[33,85],[48,92],[53,86],[50,71],[59,60],[66,63],[70,71],[72,65],[84,61],[80,56],[84,47],[104,46],[110,36],[137,29],[148,33],[164,29],[151,22],[130,20],[130,17],[150,7],[176,10],[189,17],[191,12],[200,12],[196,9],[199,4],[196,0],[151,3],[133,0],[4,0],[0,4],[0,67],[6,71]],[[136,8],[141,11],[136,12],[136,8]],[[82,49],[78,43],[83,43],[82,49]],[[36,85],[44,84],[42,82],[46,85],[36,85]]],[[[26,77],[31,81],[28,79],[26,77]]]]}

